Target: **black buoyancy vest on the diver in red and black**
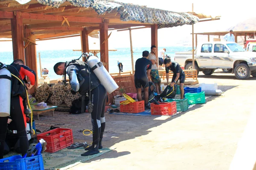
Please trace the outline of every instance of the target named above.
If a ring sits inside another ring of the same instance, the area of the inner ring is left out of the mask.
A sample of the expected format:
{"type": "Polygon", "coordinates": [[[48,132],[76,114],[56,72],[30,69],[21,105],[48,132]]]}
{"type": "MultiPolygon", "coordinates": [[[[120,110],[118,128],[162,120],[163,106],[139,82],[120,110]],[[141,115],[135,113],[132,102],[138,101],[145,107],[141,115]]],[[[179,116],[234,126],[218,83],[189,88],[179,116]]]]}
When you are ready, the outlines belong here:
{"type": "MultiPolygon", "coordinates": [[[[18,64],[11,64],[12,66],[14,66],[15,68],[13,68],[10,65],[7,65],[7,69],[16,77],[19,77],[21,80],[22,78],[19,76],[19,72],[20,72],[20,65],[18,64]]],[[[11,96],[21,96],[22,99],[26,98],[26,90],[25,87],[21,84],[21,82],[15,78],[14,76],[12,76],[12,91],[11,91],[11,96]]]]}

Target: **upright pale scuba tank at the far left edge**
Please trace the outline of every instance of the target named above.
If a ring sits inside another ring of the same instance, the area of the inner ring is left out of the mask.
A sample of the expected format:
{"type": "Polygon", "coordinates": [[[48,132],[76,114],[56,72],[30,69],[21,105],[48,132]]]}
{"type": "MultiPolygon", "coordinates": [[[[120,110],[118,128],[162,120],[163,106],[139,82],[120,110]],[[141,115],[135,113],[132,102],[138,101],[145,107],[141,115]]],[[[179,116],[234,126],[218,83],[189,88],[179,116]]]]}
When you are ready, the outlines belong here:
{"type": "Polygon", "coordinates": [[[0,68],[0,117],[10,116],[12,77],[6,65],[0,68]]]}

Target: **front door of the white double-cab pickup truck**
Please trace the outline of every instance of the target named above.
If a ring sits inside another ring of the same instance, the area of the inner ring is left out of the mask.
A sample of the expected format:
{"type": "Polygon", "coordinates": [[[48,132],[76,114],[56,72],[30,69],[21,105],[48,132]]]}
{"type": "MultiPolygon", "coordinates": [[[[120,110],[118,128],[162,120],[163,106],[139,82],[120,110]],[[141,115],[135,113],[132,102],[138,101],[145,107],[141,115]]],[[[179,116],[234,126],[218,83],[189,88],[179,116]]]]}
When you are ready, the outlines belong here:
{"type": "Polygon", "coordinates": [[[228,49],[224,44],[215,44],[213,49],[212,66],[217,68],[232,68],[232,59],[227,52],[228,49]]]}

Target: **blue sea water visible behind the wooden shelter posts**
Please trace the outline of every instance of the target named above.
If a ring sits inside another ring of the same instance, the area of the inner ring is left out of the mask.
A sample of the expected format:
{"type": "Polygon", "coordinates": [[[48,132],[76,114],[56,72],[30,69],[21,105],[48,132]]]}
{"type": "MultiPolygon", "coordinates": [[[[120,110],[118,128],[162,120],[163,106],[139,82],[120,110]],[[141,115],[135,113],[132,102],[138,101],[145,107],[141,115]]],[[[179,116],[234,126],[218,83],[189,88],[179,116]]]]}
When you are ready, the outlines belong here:
{"type": "MultiPolygon", "coordinates": [[[[174,58],[174,51],[189,51],[192,50],[192,47],[189,46],[172,46],[172,47],[159,47],[158,50],[166,48],[165,55],[167,54],[172,59],[174,58]],[[173,51],[173,52],[172,52],[173,51]]],[[[130,48],[116,48],[117,51],[109,51],[109,72],[118,73],[119,68],[117,66],[117,61],[122,62],[123,71],[131,71],[131,49],[130,48]]],[[[149,51],[150,47],[139,47],[133,48],[134,56],[134,66],[138,58],[142,57],[143,51],[149,51]]],[[[51,51],[37,51],[37,68],[38,68],[38,77],[40,77],[40,66],[39,66],[39,55],[41,57],[41,68],[47,68],[49,70],[50,79],[61,79],[62,76],[58,76],[53,71],[53,66],[57,62],[66,62],[71,61],[72,59],[77,59],[81,56],[81,51],[73,51],[72,49],[65,50],[51,50],[51,51]]],[[[100,57],[100,53],[97,54],[100,57]]],[[[13,62],[13,53],[12,51],[2,52],[0,51],[0,62],[4,64],[11,64],[13,62]]]]}

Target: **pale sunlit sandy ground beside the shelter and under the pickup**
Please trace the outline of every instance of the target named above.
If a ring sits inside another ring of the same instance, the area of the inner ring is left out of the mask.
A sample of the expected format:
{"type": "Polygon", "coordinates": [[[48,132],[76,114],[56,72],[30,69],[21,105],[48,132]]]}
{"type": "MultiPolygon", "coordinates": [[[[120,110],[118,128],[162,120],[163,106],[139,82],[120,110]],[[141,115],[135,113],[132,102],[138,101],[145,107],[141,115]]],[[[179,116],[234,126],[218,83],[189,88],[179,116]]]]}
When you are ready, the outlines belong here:
{"type": "Polygon", "coordinates": [[[227,170],[255,105],[256,78],[215,71],[198,80],[224,93],[170,118],[106,115],[106,131],[122,125],[103,142],[115,149],[69,170],[227,170]]]}

